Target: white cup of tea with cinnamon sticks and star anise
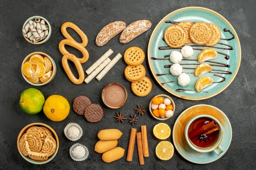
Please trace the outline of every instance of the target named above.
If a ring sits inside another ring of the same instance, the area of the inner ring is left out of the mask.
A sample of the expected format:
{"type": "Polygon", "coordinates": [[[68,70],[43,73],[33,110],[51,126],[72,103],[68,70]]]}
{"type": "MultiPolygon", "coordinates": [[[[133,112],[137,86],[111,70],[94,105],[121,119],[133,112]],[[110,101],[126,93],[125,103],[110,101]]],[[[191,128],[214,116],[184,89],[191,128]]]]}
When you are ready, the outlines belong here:
{"type": "Polygon", "coordinates": [[[223,137],[220,122],[209,115],[193,117],[185,126],[185,138],[189,146],[200,153],[214,151],[217,155],[223,152],[220,146],[223,137]]]}

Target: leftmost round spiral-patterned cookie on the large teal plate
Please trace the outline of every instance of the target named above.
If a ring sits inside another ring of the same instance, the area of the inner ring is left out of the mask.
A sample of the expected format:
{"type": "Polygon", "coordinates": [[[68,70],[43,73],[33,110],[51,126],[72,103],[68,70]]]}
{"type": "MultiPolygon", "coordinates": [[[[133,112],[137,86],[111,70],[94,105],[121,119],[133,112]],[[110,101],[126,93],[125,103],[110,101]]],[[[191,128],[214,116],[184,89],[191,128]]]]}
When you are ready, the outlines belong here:
{"type": "Polygon", "coordinates": [[[179,48],[186,43],[186,31],[182,26],[171,25],[164,31],[164,41],[172,48],[179,48]]]}

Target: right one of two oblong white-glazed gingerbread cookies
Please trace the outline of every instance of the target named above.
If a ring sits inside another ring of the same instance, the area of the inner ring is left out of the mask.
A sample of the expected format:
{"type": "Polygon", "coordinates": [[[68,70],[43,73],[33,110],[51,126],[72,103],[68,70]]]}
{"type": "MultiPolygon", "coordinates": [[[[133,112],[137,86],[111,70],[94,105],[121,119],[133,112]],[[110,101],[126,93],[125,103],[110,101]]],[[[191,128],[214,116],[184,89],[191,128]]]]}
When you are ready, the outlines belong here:
{"type": "Polygon", "coordinates": [[[137,36],[141,35],[142,33],[148,31],[150,27],[151,22],[148,20],[139,20],[132,22],[132,24],[128,25],[121,33],[119,41],[122,44],[126,44],[132,41],[132,39],[135,39],[137,36]]]}

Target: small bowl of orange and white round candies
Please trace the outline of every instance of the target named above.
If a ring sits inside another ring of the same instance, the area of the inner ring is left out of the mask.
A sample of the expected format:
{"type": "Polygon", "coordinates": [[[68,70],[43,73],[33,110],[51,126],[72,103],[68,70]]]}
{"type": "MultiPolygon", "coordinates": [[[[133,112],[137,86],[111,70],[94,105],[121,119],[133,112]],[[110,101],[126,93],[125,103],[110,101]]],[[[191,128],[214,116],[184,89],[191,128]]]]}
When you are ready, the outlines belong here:
{"type": "Polygon", "coordinates": [[[150,101],[149,111],[155,119],[167,120],[173,116],[175,104],[171,97],[159,94],[150,101]]]}

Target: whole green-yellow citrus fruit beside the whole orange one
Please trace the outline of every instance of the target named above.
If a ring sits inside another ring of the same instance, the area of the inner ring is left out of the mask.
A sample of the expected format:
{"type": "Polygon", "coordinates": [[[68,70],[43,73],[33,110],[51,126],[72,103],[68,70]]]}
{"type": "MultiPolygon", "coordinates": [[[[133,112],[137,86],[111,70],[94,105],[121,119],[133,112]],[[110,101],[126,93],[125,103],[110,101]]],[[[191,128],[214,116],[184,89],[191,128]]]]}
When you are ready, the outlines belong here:
{"type": "Polygon", "coordinates": [[[30,115],[39,113],[43,109],[45,97],[35,88],[29,88],[20,95],[20,107],[30,115]]]}

